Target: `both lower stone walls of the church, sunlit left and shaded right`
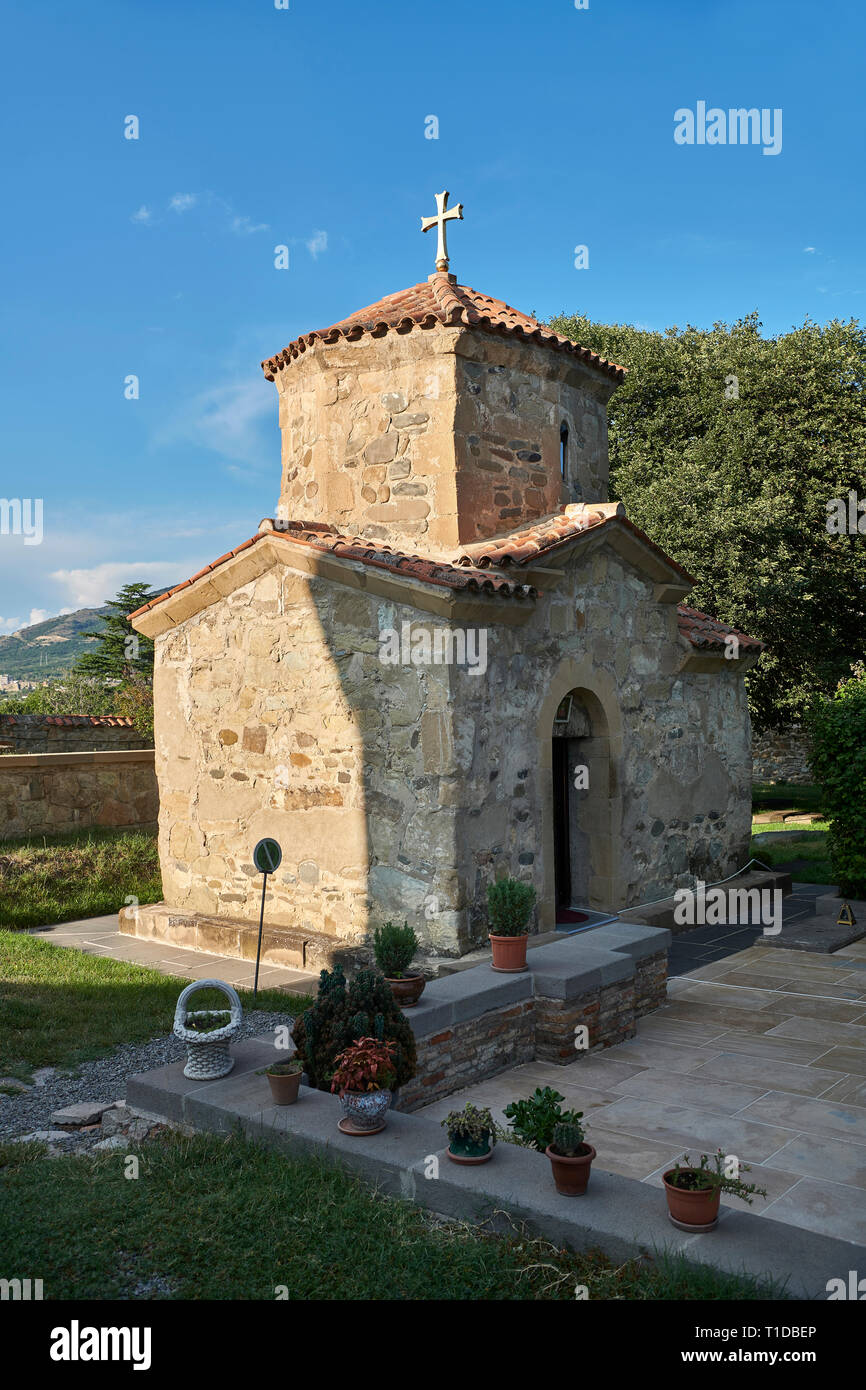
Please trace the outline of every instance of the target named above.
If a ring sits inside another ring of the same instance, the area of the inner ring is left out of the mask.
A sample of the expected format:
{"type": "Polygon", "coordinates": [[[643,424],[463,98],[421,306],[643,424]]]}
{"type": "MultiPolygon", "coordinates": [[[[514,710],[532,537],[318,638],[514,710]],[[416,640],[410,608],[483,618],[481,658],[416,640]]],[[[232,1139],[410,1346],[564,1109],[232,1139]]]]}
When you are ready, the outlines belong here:
{"type": "Polygon", "coordinates": [[[428,947],[461,952],[484,938],[500,872],[535,883],[552,926],[553,712],[570,691],[589,721],[589,905],[740,867],[741,673],[681,671],[676,606],[606,549],[577,552],[524,626],[502,623],[502,605],[477,605],[485,674],[382,664],[384,628],[443,620],[281,564],[157,637],[165,901],[257,920],[252,849],[267,834],[284,848],[274,926],[357,941],[406,917],[428,947]]]}

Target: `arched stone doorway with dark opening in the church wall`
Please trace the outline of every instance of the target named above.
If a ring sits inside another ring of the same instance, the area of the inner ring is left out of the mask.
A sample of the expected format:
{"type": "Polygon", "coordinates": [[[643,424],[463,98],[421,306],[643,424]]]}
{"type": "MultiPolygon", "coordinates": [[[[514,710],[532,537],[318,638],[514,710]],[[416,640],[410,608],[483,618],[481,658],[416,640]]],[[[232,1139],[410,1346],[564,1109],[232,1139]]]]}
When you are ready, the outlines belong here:
{"type": "Polygon", "coordinates": [[[539,726],[544,899],[539,926],[563,910],[626,906],[620,878],[621,731],[603,676],[567,663],[544,701],[539,726]]]}

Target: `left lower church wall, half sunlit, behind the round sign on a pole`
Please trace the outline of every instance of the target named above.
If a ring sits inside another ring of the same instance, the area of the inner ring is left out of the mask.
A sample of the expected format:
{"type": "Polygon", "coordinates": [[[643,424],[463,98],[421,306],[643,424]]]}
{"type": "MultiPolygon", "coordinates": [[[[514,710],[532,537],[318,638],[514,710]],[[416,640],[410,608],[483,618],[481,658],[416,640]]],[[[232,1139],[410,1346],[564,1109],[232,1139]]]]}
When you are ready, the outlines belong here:
{"type": "Polygon", "coordinates": [[[167,903],[257,920],[252,849],[272,835],[274,926],[359,940],[370,898],[374,922],[410,917],[457,949],[459,776],[428,766],[448,741],[449,671],[379,662],[379,630],[413,616],[281,569],[157,638],[167,903]]]}

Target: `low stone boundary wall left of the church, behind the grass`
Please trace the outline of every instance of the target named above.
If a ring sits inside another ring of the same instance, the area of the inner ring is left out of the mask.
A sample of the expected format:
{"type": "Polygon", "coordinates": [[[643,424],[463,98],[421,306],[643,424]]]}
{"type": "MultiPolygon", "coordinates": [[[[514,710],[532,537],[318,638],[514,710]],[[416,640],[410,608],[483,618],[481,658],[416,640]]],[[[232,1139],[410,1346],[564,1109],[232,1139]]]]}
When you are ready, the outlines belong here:
{"type": "Polygon", "coordinates": [[[153,826],[153,749],[0,758],[0,838],[90,826],[153,826]]]}

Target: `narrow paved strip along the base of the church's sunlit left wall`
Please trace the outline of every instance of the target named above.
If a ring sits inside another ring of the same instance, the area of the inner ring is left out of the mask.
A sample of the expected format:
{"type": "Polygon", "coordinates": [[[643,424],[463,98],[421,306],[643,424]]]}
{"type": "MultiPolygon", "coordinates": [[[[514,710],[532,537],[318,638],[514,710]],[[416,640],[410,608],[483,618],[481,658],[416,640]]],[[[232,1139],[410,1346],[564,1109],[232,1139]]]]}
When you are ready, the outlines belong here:
{"type": "MultiPolygon", "coordinates": [[[[107,917],[86,917],[82,922],[63,922],[56,927],[35,927],[31,935],[43,937],[54,947],[71,947],[86,955],[110,956],[131,965],[146,965],[161,974],[175,974],[183,980],[225,980],[235,988],[253,988],[254,960],[229,960],[206,951],[185,951],[164,941],[143,941],[121,935],[117,913],[107,917]]],[[[263,963],[259,970],[260,990],[285,990],[289,994],[316,994],[318,976],[303,970],[263,963]]]]}

